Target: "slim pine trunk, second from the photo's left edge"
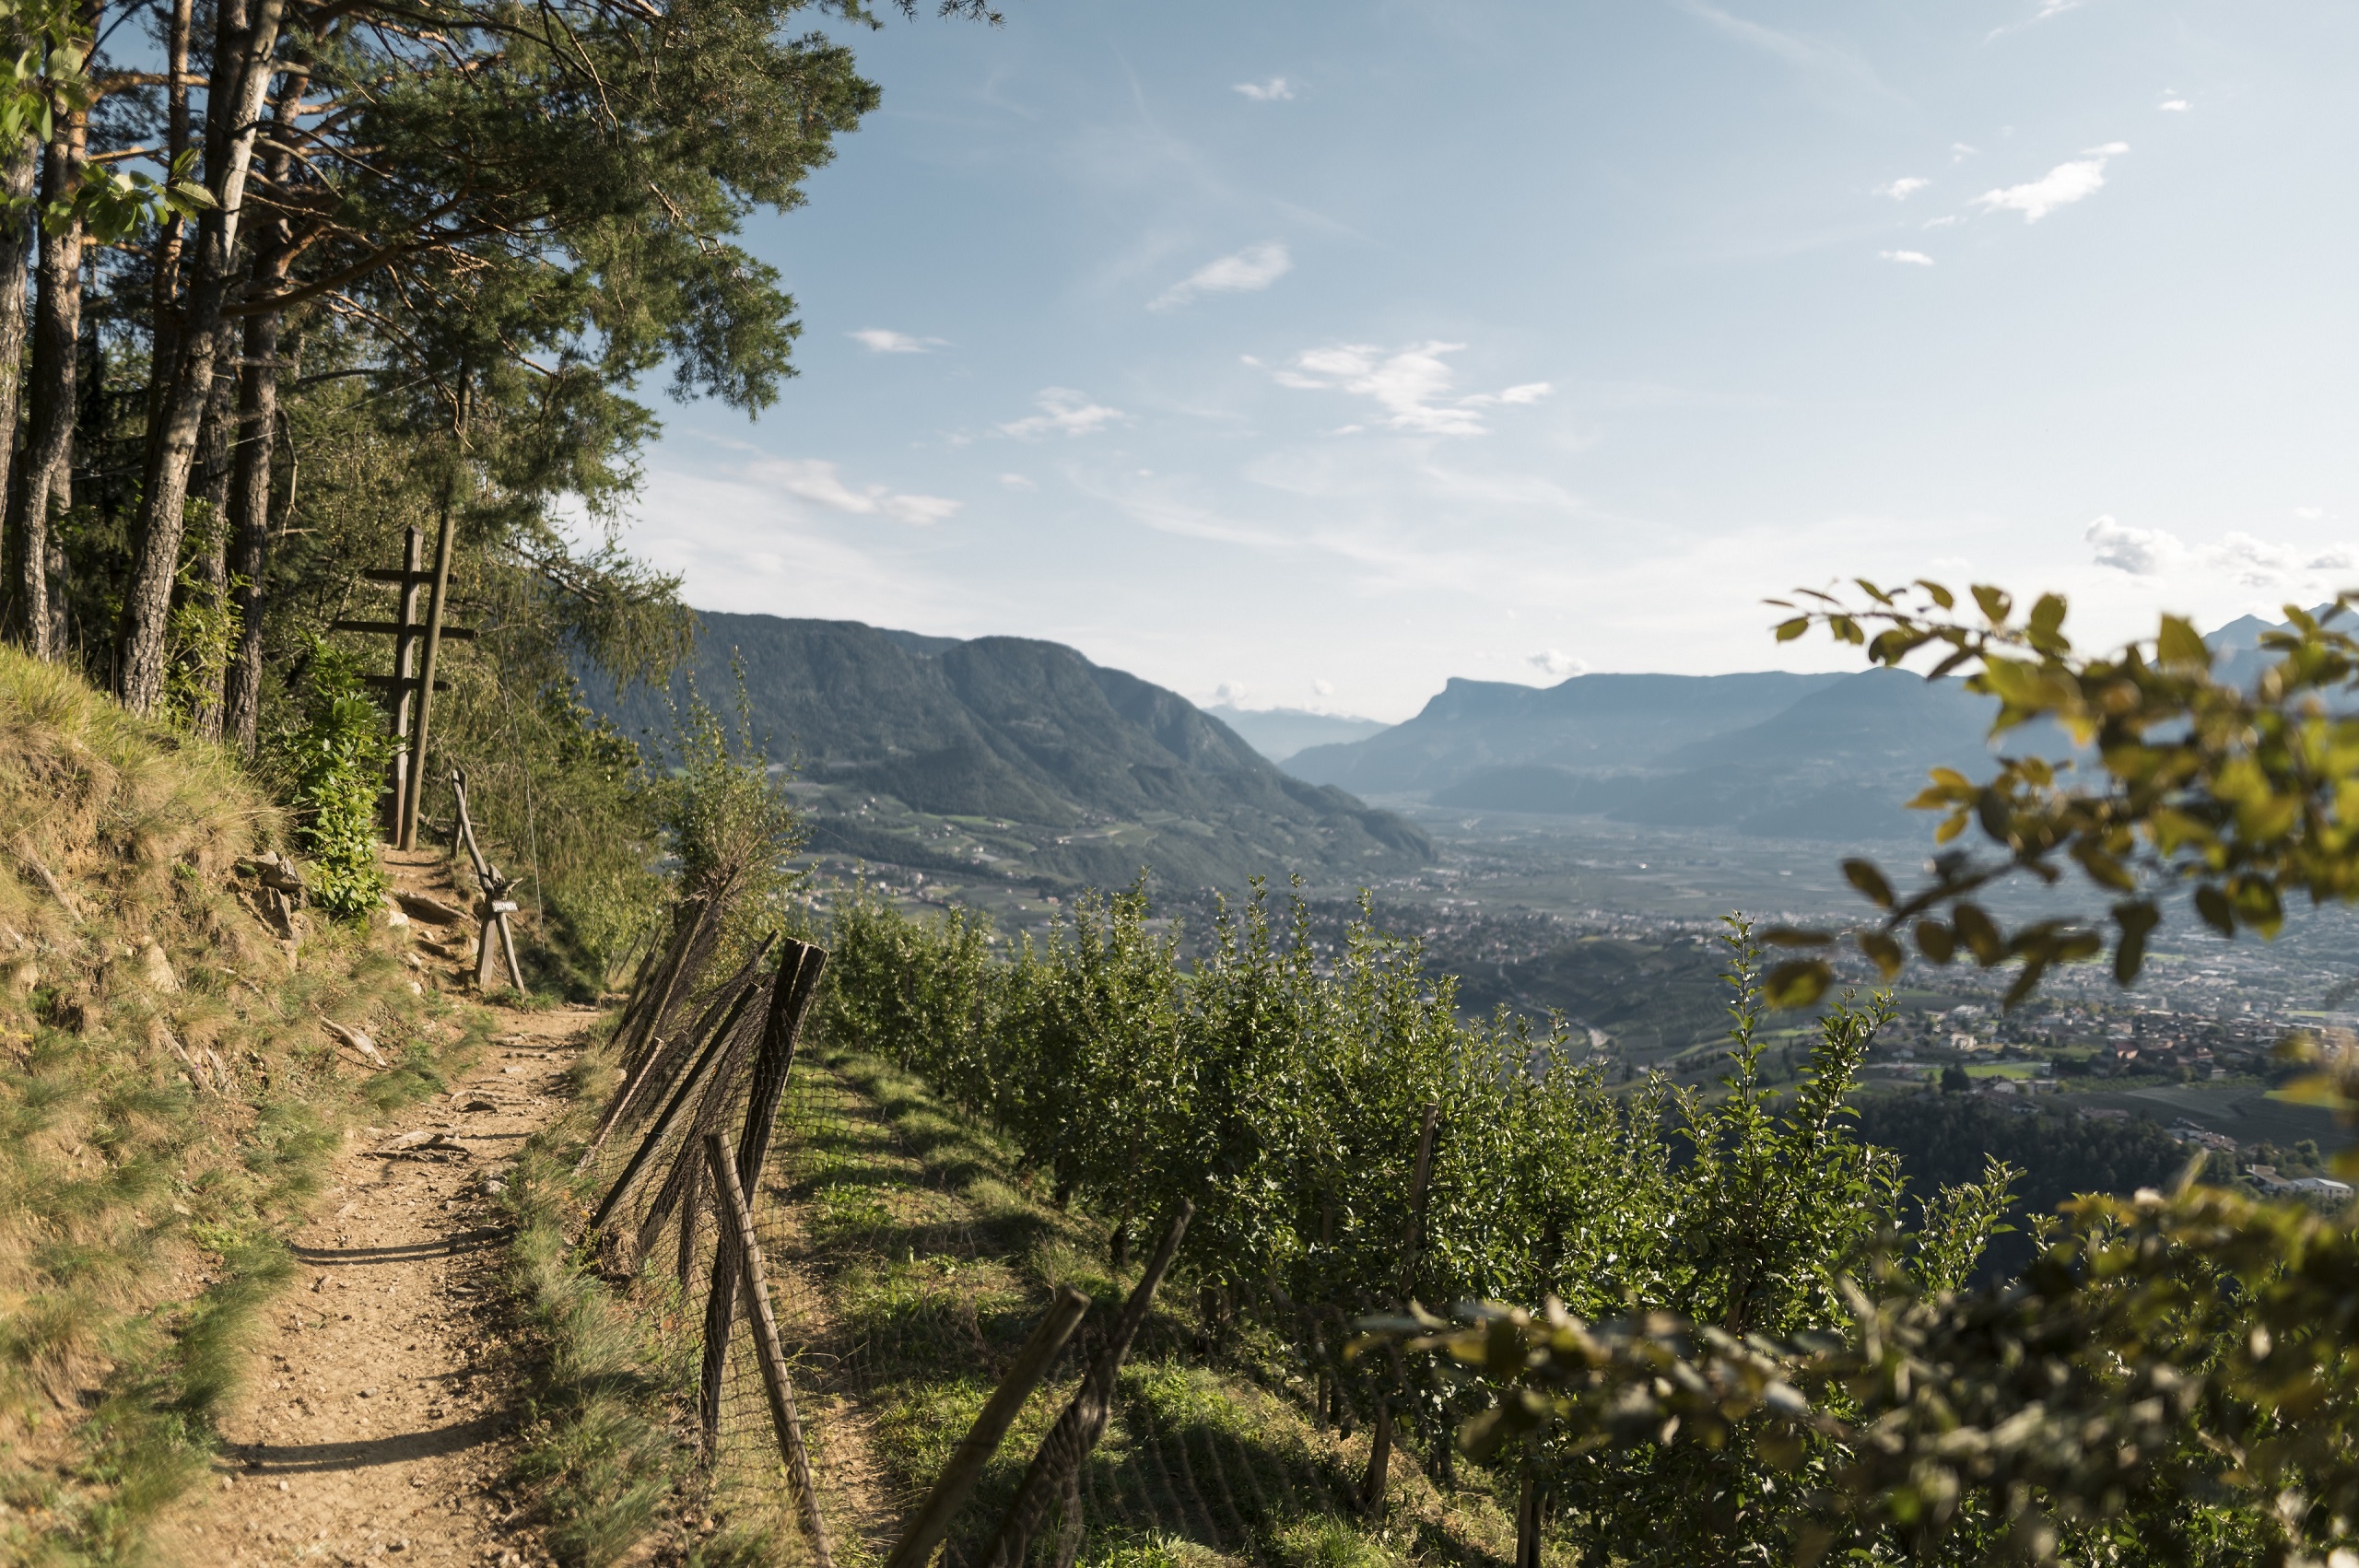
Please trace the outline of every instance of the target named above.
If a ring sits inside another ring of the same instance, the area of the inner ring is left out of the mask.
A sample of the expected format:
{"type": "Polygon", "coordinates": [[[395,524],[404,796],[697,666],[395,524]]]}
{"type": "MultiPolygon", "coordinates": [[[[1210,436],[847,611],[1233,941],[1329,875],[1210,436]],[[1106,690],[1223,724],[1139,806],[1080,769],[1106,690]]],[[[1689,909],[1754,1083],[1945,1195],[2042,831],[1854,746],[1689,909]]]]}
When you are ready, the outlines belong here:
{"type": "MultiPolygon", "coordinates": [[[[90,111],[57,118],[40,158],[40,205],[57,210],[83,189],[90,111]]],[[[75,382],[83,337],[83,219],[42,222],[33,274],[33,375],[26,389],[24,483],[9,486],[9,533],[26,559],[50,559],[50,498],[73,453],[75,382]]],[[[50,573],[26,580],[26,613],[42,627],[33,653],[50,658],[50,573]]]]}

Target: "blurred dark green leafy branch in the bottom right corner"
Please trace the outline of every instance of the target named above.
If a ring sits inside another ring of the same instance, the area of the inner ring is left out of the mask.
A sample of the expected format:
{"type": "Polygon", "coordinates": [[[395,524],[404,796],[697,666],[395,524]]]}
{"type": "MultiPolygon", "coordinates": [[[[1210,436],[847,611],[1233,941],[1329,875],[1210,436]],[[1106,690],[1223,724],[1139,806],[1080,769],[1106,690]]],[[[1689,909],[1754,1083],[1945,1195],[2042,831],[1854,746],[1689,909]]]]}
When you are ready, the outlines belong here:
{"type": "Polygon", "coordinates": [[[2083,1198],[2000,1287],[1934,1290],[1887,1254],[1845,1283],[1838,1335],[1467,1304],[1458,1323],[1364,1320],[1356,1351],[1404,1342],[1489,1389],[1460,1427],[1477,1460],[1538,1438],[1562,1452],[1748,1441],[1793,1474],[1831,1441],[1838,1462],[1805,1476],[1802,1563],[1845,1544],[2048,1563],[2076,1530],[2151,1523],[2189,1495],[2253,1504],[2258,1561],[2342,1561],[2359,1518],[2359,1236],[2192,1177],[2170,1195],[2083,1198]]]}

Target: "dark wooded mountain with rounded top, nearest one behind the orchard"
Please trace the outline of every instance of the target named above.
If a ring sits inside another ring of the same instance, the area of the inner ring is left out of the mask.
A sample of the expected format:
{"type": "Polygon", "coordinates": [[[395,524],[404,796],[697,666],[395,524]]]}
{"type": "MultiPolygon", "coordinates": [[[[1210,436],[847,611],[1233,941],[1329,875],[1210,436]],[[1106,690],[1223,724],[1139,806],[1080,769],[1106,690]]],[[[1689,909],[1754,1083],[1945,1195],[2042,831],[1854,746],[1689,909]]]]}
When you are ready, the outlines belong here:
{"type": "MultiPolygon", "coordinates": [[[[1187,698],[1073,648],[920,637],[856,620],[701,613],[689,679],[724,714],[743,672],[755,738],[800,773],[814,849],[920,870],[1118,887],[1248,875],[1373,877],[1432,861],[1401,816],[1288,778],[1187,698]]],[[[597,700],[599,693],[592,693],[597,700]]],[[[606,700],[665,736],[658,691],[606,700]]]]}

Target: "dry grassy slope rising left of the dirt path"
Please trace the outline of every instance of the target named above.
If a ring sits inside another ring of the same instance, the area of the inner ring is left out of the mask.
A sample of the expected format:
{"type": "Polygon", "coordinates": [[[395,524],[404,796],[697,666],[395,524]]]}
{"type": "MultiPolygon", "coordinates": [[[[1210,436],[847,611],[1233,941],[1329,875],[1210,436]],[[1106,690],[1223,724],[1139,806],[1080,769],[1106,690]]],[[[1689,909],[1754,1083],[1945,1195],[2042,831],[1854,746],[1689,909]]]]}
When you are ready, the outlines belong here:
{"type": "Polygon", "coordinates": [[[281,943],[236,875],[281,835],[217,747],[0,651],[0,1561],[137,1561],[328,1151],[479,1035],[382,931],[281,943]]]}

